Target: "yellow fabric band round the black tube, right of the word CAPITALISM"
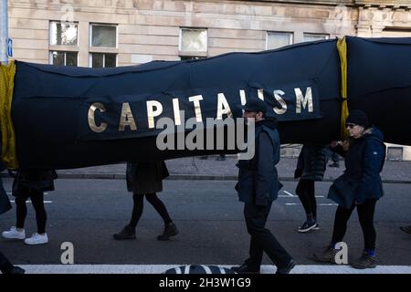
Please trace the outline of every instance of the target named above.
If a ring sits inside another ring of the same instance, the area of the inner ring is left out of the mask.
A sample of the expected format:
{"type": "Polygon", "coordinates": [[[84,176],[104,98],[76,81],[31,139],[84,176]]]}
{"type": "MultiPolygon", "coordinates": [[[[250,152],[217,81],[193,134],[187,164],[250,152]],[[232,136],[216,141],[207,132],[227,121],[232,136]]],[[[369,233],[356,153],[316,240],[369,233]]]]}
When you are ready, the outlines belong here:
{"type": "Polygon", "coordinates": [[[341,64],[341,96],[342,96],[342,105],[341,105],[341,140],[348,138],[349,133],[345,127],[345,121],[348,118],[348,103],[347,103],[347,41],[345,36],[341,39],[338,39],[337,42],[338,55],[340,55],[340,64],[341,64]]]}

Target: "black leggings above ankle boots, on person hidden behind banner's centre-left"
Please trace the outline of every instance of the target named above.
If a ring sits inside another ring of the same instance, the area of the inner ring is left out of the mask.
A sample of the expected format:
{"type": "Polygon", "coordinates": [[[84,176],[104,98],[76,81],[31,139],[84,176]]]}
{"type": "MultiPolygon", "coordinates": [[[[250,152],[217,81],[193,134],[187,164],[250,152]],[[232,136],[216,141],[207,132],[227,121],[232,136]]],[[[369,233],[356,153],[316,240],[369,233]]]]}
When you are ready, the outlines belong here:
{"type": "MultiPolygon", "coordinates": [[[[146,193],[145,198],[149,203],[153,205],[157,213],[162,216],[164,224],[169,224],[172,222],[164,203],[157,197],[155,193],[146,193]]],[[[135,228],[135,226],[137,226],[137,224],[139,223],[140,217],[142,216],[144,194],[133,193],[132,201],[134,202],[134,205],[132,207],[132,220],[130,221],[130,225],[135,228]]]]}

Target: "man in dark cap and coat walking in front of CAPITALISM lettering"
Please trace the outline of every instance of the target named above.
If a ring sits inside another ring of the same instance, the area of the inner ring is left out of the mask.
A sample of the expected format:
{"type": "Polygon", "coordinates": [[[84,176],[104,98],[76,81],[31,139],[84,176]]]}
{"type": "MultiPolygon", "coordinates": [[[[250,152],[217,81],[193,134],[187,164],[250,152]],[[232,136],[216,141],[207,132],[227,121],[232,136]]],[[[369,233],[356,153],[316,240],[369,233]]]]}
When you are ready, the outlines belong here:
{"type": "Polygon", "coordinates": [[[248,234],[251,235],[249,258],[237,273],[258,273],[263,252],[277,266],[277,274],[289,274],[295,263],[276,237],[265,227],[271,204],[277,199],[279,181],[276,164],[279,162],[279,132],[277,120],[266,118],[267,106],[260,99],[249,100],[242,108],[244,118],[255,122],[255,155],[251,160],[238,162],[236,190],[244,202],[248,234]]]}

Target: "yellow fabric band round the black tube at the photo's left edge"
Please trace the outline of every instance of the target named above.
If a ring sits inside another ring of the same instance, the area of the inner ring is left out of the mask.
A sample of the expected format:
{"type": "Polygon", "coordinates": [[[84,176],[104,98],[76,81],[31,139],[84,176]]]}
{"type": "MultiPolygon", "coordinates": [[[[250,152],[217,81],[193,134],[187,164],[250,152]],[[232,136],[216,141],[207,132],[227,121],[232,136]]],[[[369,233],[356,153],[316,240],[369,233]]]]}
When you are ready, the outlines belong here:
{"type": "Polygon", "coordinates": [[[16,63],[1,65],[0,70],[0,128],[2,130],[2,161],[8,169],[18,168],[16,135],[11,119],[11,105],[15,86],[16,63]]]}

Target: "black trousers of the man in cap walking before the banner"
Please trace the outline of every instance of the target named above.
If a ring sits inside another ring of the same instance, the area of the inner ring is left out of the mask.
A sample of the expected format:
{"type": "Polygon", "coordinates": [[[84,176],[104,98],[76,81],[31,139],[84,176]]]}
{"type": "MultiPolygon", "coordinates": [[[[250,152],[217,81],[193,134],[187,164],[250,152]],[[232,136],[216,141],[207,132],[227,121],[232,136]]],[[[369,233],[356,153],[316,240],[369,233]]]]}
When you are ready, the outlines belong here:
{"type": "Polygon", "coordinates": [[[248,266],[258,268],[261,265],[263,252],[269,255],[269,259],[278,268],[290,264],[291,256],[279,244],[276,237],[267,229],[266,223],[269,216],[271,203],[268,206],[256,206],[254,203],[244,205],[248,234],[251,235],[249,245],[248,266]]]}

